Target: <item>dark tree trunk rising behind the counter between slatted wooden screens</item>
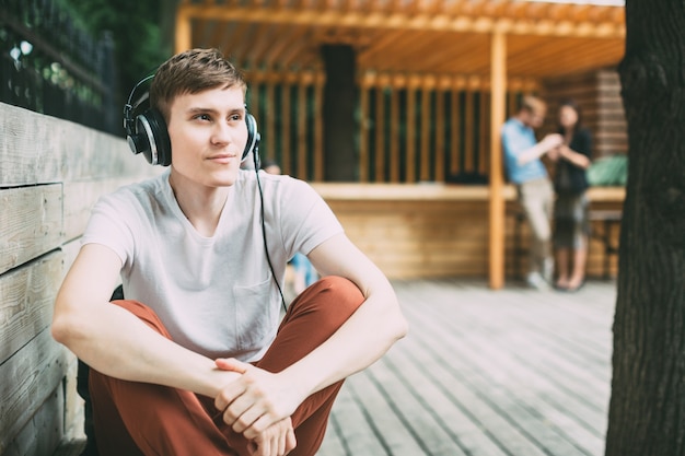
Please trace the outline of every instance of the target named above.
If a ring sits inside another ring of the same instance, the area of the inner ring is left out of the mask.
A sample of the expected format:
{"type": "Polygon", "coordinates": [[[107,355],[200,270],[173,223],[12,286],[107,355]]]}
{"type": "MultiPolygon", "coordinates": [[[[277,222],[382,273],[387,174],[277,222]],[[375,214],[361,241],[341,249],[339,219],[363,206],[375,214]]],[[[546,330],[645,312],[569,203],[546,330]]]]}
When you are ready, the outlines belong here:
{"type": "Polygon", "coordinates": [[[355,148],[356,56],[348,45],[322,47],[326,68],[324,87],[324,179],[357,180],[358,157],[355,148]]]}

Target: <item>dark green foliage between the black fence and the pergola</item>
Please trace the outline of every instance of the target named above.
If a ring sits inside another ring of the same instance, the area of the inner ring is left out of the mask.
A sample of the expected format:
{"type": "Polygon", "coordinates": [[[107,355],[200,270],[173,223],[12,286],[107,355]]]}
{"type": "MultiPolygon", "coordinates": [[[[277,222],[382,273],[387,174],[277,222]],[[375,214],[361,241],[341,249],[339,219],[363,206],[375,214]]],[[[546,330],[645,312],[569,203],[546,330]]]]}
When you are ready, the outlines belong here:
{"type": "Polygon", "coordinates": [[[112,32],[119,100],[170,56],[172,43],[162,43],[161,36],[162,1],[59,0],[94,37],[112,32]]]}

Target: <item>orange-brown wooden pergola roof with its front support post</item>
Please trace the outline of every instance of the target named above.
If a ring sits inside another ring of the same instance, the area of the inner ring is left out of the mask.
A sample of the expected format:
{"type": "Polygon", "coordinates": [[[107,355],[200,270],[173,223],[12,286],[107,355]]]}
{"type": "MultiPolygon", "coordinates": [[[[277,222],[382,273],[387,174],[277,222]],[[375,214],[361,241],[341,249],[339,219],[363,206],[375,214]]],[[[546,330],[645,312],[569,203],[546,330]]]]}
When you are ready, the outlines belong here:
{"type": "Polygon", "coordinates": [[[182,0],[176,51],[218,47],[266,73],[321,73],[321,47],[348,44],[360,80],[378,74],[486,84],[490,96],[489,282],[504,278],[499,128],[508,85],[616,66],[618,5],[526,0],[182,0]]]}

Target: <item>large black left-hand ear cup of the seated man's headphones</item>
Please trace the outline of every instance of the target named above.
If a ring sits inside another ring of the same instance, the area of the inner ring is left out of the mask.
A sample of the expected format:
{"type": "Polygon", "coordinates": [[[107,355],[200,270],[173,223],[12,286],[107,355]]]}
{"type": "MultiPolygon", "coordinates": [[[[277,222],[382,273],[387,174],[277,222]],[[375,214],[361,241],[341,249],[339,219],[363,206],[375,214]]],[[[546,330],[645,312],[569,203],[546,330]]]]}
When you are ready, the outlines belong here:
{"type": "Polygon", "coordinates": [[[147,109],[136,117],[136,135],[128,137],[133,153],[142,153],[152,165],[171,164],[171,140],[166,122],[156,109],[147,109]]]}

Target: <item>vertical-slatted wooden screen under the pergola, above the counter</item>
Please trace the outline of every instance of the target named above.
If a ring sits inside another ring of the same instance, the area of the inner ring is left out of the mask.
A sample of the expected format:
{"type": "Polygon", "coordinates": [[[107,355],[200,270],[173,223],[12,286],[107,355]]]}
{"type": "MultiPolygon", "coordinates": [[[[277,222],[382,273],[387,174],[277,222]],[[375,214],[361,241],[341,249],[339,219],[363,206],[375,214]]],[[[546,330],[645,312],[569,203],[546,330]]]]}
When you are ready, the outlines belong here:
{"type": "MultiPolygon", "coordinates": [[[[285,174],[324,180],[323,73],[247,73],[247,105],[262,133],[264,157],[285,174]]],[[[487,180],[490,153],[489,82],[478,78],[375,75],[359,80],[358,182],[487,180]]],[[[537,87],[509,81],[507,112],[537,87]]]]}

